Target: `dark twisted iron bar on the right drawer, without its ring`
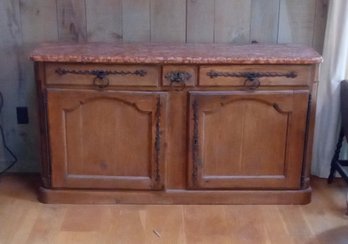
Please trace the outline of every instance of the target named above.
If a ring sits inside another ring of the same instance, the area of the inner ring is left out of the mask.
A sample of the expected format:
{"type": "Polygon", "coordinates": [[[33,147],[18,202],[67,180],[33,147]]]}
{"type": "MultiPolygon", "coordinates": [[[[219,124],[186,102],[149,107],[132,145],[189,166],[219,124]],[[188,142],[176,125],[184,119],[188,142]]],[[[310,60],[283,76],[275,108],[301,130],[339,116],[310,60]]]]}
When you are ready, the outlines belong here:
{"type": "Polygon", "coordinates": [[[296,78],[297,73],[294,71],[287,73],[280,72],[217,72],[217,71],[209,71],[207,75],[214,79],[219,76],[221,77],[244,77],[247,80],[253,80],[261,77],[286,77],[286,78],[296,78]]]}

